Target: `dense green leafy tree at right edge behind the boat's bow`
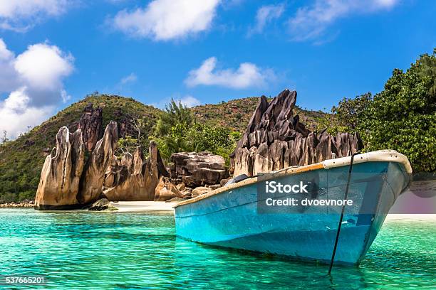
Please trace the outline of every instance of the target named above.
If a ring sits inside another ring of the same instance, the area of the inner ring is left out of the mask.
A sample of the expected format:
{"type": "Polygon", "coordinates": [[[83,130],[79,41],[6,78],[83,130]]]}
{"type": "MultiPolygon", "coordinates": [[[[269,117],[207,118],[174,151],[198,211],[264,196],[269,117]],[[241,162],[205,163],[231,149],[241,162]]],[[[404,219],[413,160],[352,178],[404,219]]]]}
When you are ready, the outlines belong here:
{"type": "Polygon", "coordinates": [[[393,70],[359,119],[366,150],[395,149],[414,171],[436,171],[435,72],[435,53],[422,55],[405,73],[393,70]]]}

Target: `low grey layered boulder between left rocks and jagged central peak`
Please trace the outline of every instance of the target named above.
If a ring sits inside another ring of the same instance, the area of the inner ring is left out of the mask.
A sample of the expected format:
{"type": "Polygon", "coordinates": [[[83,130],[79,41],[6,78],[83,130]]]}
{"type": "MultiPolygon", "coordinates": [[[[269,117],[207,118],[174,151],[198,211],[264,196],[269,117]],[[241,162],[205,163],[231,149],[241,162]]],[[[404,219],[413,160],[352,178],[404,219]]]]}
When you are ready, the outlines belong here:
{"type": "Polygon", "coordinates": [[[229,176],[224,158],[209,152],[175,153],[170,161],[171,177],[190,187],[219,184],[229,176]]]}

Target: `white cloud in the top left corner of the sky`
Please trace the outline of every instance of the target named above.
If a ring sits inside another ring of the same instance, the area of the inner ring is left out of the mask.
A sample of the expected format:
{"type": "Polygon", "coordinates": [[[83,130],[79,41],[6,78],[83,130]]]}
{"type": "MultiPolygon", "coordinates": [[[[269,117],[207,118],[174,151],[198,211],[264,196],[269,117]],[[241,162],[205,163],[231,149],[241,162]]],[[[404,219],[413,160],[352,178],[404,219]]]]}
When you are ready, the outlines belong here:
{"type": "Polygon", "coordinates": [[[59,16],[72,0],[4,0],[0,1],[0,28],[27,31],[48,16],[59,16]]]}

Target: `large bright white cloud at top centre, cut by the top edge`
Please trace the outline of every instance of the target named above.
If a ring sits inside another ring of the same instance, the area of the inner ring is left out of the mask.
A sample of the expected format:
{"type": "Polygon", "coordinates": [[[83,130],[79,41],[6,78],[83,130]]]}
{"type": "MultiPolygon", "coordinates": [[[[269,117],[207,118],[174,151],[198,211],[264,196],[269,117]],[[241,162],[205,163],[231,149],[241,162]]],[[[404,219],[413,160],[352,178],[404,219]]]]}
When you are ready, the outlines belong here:
{"type": "Polygon", "coordinates": [[[120,11],[115,29],[130,36],[168,41],[206,31],[220,0],[154,0],[144,9],[120,11]]]}

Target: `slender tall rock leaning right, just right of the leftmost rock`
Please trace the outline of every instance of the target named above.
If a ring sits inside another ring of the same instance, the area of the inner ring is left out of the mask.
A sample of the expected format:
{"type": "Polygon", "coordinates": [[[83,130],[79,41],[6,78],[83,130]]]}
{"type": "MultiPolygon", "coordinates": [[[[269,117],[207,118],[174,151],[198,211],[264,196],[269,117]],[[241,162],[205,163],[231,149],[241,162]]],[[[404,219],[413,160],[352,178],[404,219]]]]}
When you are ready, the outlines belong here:
{"type": "Polygon", "coordinates": [[[103,138],[95,144],[95,149],[85,164],[78,193],[79,203],[92,203],[100,197],[105,181],[105,172],[113,161],[117,141],[117,123],[110,122],[105,129],[103,138]]]}

